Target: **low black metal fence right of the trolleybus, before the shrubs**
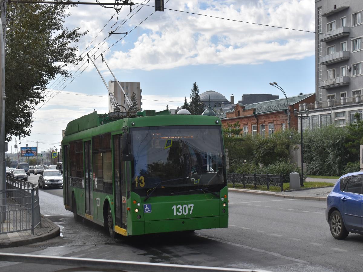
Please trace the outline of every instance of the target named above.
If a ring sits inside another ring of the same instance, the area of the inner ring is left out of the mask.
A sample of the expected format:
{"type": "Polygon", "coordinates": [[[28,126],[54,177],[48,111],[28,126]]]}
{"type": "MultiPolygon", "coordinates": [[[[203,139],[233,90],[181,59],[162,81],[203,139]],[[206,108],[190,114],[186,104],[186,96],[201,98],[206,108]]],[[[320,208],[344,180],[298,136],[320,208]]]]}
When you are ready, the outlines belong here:
{"type": "Polygon", "coordinates": [[[272,174],[227,174],[227,183],[233,184],[233,188],[236,184],[242,184],[246,188],[246,184],[254,185],[254,189],[257,189],[257,185],[266,185],[267,189],[270,186],[279,186],[281,191],[282,188],[282,175],[272,175],[272,174]]]}

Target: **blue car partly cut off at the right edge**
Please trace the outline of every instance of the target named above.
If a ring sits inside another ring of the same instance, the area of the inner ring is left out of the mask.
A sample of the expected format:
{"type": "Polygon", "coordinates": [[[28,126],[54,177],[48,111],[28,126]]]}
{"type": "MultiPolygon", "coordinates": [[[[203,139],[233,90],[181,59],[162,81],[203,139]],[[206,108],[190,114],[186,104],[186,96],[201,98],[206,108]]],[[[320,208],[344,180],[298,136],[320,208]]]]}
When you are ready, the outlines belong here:
{"type": "Polygon", "coordinates": [[[363,172],[341,176],[326,199],[325,217],[335,239],[363,234],[363,172]]]}

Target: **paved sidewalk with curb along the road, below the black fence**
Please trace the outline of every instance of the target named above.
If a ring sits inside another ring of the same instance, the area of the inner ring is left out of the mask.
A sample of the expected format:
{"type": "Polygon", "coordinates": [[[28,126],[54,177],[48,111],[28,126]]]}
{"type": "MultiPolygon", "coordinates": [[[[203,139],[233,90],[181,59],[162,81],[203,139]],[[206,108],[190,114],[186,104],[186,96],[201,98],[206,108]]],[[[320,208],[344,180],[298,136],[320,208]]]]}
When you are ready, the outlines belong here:
{"type": "Polygon", "coordinates": [[[283,192],[268,192],[268,191],[259,191],[259,190],[228,188],[228,191],[234,193],[244,193],[244,194],[270,195],[273,197],[326,201],[326,197],[330,193],[331,189],[333,189],[333,187],[309,188],[309,189],[303,188],[303,189],[288,190],[283,192]]]}

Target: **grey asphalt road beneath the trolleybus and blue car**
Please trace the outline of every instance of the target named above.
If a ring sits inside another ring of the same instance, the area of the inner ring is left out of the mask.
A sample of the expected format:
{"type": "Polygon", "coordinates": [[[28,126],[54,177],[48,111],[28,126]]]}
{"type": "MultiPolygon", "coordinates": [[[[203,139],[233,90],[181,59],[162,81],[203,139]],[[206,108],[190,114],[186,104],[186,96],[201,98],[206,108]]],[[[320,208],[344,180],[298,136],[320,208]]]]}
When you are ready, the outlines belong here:
{"type": "MultiPolygon", "coordinates": [[[[363,264],[363,236],[333,239],[322,201],[230,193],[228,228],[111,239],[101,226],[74,222],[57,190],[39,195],[41,213],[61,227],[61,237],[3,252],[269,271],[360,271],[363,264]]],[[[1,271],[66,268],[0,263],[1,271]]]]}

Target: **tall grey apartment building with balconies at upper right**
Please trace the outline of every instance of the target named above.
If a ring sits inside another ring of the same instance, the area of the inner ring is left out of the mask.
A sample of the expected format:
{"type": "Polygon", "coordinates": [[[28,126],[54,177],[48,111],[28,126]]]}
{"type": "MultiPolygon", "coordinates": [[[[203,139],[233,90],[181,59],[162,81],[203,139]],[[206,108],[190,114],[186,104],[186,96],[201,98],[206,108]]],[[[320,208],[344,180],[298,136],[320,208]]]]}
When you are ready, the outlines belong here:
{"type": "MultiPolygon", "coordinates": [[[[363,112],[363,1],[315,0],[315,98],[303,128],[353,122],[363,112]]],[[[299,114],[301,113],[299,112],[299,114]]]]}

